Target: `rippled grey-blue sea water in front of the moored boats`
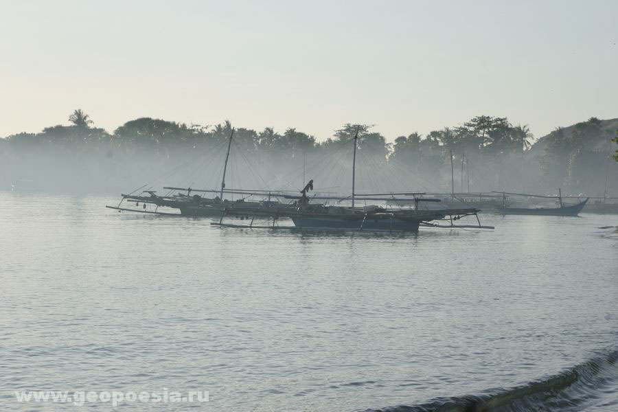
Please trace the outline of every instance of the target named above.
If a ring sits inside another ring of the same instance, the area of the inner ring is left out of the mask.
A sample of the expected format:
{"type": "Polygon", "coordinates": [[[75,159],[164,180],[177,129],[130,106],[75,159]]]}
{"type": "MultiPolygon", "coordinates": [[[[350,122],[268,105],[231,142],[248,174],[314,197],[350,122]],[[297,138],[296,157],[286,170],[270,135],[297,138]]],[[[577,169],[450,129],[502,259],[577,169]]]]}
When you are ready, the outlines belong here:
{"type": "Polygon", "coordinates": [[[62,406],[16,390],[168,388],[210,402],[128,406],[618,410],[618,242],[598,229],[618,216],[389,236],[115,202],[0,192],[0,407],[62,406]]]}

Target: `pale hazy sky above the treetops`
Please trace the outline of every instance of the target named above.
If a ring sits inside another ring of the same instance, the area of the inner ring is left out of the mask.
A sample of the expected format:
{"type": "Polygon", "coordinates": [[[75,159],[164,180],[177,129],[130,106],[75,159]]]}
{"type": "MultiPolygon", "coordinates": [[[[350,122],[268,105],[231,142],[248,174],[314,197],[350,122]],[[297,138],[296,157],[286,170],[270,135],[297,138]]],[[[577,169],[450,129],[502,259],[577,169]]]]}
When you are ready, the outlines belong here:
{"type": "Polygon", "coordinates": [[[618,1],[1,1],[0,136],[137,117],[389,141],[618,117],[618,1]]]}

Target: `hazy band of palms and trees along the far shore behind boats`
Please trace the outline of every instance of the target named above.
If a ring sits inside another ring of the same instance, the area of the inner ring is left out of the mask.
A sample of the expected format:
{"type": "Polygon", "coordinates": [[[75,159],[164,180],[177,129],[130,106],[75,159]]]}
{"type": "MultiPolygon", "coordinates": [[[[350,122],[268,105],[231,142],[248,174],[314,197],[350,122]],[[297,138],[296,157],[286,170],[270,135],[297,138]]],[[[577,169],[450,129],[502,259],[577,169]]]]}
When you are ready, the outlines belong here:
{"type": "MultiPolygon", "coordinates": [[[[40,133],[0,139],[0,189],[130,192],[141,185],[215,188],[232,124],[183,124],[143,117],[113,133],[84,111],[40,133]]],[[[357,192],[618,194],[618,119],[595,117],[558,127],[538,140],[506,117],[477,116],[434,130],[411,131],[389,143],[376,127],[344,124],[317,139],[295,128],[234,128],[227,187],[296,190],[314,179],[323,191],[350,190],[352,137],[358,130],[357,192]],[[451,155],[453,170],[451,170],[451,155]]],[[[389,137],[393,140],[393,137],[389,137]]]]}

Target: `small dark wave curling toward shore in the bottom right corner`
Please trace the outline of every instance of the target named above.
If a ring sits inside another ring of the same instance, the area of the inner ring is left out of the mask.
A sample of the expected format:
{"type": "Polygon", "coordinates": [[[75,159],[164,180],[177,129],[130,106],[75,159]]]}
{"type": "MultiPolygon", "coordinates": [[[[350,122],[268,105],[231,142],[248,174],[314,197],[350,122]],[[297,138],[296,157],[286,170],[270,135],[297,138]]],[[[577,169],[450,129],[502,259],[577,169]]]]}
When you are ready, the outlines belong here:
{"type": "Polygon", "coordinates": [[[618,399],[606,403],[603,398],[617,391],[618,350],[611,350],[560,374],[520,387],[365,412],[558,412],[582,411],[599,403],[610,411],[618,410],[618,399]]]}

